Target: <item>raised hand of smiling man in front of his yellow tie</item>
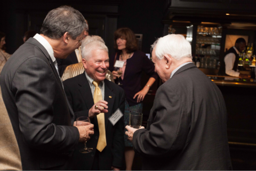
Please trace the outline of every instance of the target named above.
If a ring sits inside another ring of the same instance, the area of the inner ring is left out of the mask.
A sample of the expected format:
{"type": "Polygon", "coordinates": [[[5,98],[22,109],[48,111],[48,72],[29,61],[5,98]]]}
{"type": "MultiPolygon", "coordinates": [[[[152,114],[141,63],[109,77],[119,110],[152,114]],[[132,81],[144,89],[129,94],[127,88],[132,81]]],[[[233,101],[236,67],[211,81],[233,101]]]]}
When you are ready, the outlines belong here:
{"type": "Polygon", "coordinates": [[[89,110],[89,118],[93,118],[94,116],[99,115],[100,113],[107,113],[108,112],[108,102],[104,100],[100,100],[97,103],[95,103],[92,108],[89,110]],[[97,105],[97,108],[95,106],[97,105]]]}

